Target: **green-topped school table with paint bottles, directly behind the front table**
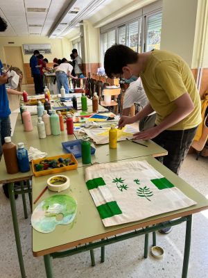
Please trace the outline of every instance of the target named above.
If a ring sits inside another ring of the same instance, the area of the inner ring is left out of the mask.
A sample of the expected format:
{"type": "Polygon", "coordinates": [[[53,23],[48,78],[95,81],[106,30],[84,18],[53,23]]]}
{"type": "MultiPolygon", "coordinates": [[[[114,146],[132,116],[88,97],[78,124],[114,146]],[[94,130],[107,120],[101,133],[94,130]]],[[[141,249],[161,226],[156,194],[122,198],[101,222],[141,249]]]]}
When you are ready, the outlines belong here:
{"type": "MultiPolygon", "coordinates": [[[[89,106],[89,111],[92,111],[92,106],[89,106]]],[[[33,121],[33,131],[24,132],[24,126],[21,124],[21,117],[18,115],[17,122],[15,125],[15,132],[14,136],[12,136],[12,142],[17,144],[18,142],[24,142],[25,147],[28,149],[29,147],[35,147],[40,149],[42,152],[47,152],[48,156],[55,156],[58,154],[64,153],[62,150],[61,142],[69,141],[69,140],[76,140],[76,136],[68,136],[67,131],[62,131],[60,136],[47,136],[45,139],[39,139],[37,134],[37,115],[32,115],[33,121]]],[[[76,134],[76,133],[75,133],[76,134]]],[[[150,147],[143,147],[132,142],[119,142],[118,149],[119,154],[114,152],[114,150],[109,150],[108,145],[105,146],[96,146],[96,156],[92,156],[92,162],[112,162],[116,160],[121,160],[125,158],[135,158],[140,156],[146,156],[153,154],[154,156],[161,156],[166,155],[167,152],[165,149],[156,145],[154,142],[148,142],[150,147]],[[121,150],[120,144],[123,147],[128,147],[128,152],[121,150]],[[144,149],[145,148],[145,149],[144,149]],[[121,152],[120,152],[121,151],[121,152]],[[107,155],[109,154],[109,155],[107,155]]],[[[78,167],[83,167],[81,158],[78,158],[78,167]]],[[[65,172],[64,172],[65,173],[65,172]]],[[[30,204],[32,205],[32,197],[31,197],[31,186],[29,180],[33,177],[33,171],[29,171],[26,173],[18,172],[17,174],[7,174],[6,166],[4,163],[3,156],[0,162],[0,183],[7,183],[8,190],[10,195],[10,206],[12,211],[12,221],[15,231],[15,240],[17,245],[17,254],[19,258],[19,266],[21,270],[21,277],[26,277],[26,272],[24,270],[24,261],[22,258],[21,252],[21,241],[19,237],[19,227],[17,221],[17,211],[15,205],[15,194],[21,194],[23,199],[24,205],[24,216],[27,218],[27,211],[26,211],[26,199],[25,193],[29,194],[30,204]],[[14,183],[20,181],[20,188],[15,190],[14,183]],[[26,186],[24,186],[24,181],[27,181],[26,186]]]]}

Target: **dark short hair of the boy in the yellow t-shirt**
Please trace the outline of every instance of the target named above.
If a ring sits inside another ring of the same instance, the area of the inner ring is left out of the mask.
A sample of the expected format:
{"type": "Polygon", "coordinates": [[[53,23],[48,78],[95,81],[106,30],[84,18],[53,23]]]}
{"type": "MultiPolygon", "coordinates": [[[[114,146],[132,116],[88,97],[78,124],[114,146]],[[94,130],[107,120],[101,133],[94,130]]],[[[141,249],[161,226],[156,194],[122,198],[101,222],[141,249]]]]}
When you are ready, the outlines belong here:
{"type": "Polygon", "coordinates": [[[113,74],[123,74],[122,68],[128,64],[136,63],[137,59],[137,52],[130,49],[130,47],[126,47],[123,44],[114,44],[105,52],[105,73],[112,79],[114,77],[113,74]]]}

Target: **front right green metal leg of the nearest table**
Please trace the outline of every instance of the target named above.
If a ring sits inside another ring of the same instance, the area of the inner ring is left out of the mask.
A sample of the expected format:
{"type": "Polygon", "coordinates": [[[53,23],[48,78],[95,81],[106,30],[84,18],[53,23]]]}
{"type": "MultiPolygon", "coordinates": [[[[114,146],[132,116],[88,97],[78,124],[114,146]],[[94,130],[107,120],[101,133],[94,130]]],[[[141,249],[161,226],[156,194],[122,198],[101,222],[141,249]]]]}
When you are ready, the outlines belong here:
{"type": "Polygon", "coordinates": [[[186,240],[184,246],[184,263],[182,269],[182,278],[187,278],[189,268],[189,254],[191,248],[191,227],[192,227],[192,215],[187,216],[187,228],[186,228],[186,240]]]}

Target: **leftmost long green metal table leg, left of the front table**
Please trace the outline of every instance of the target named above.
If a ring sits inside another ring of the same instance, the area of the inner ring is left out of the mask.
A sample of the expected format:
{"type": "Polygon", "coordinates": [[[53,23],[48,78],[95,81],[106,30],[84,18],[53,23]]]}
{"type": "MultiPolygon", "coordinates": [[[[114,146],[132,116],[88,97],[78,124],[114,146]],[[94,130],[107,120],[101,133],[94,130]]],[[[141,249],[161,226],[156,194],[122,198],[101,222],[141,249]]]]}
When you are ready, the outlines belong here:
{"type": "Polygon", "coordinates": [[[12,221],[13,221],[13,227],[15,231],[15,240],[17,245],[17,254],[19,258],[19,267],[21,271],[21,278],[26,278],[26,273],[24,270],[24,261],[22,257],[21,252],[21,241],[19,236],[19,227],[17,222],[17,210],[16,210],[16,204],[15,204],[15,193],[14,193],[14,183],[8,183],[8,192],[10,197],[10,206],[12,211],[12,221]]]}

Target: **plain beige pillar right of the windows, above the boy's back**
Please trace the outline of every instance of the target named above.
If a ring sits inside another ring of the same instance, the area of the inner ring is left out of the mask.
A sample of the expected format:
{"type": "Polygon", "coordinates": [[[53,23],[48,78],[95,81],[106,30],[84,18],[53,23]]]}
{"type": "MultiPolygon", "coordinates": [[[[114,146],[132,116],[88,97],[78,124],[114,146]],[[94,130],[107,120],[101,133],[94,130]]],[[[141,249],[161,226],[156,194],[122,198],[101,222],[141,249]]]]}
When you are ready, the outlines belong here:
{"type": "Polygon", "coordinates": [[[182,56],[191,67],[198,0],[163,0],[160,47],[182,56]]]}

